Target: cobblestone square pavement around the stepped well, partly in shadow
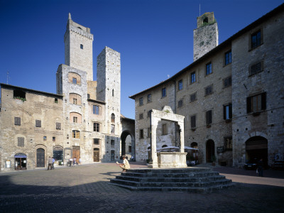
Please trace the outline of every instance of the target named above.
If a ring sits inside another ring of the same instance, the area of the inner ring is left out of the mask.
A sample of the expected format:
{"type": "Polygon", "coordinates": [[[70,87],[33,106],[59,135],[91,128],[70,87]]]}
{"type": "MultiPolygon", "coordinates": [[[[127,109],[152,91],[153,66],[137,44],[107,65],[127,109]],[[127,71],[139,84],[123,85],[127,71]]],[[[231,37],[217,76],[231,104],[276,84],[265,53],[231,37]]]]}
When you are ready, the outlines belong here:
{"type": "Polygon", "coordinates": [[[218,169],[237,175],[238,182],[209,194],[116,187],[109,184],[121,171],[115,163],[0,173],[0,212],[283,212],[284,179],[265,178],[263,184],[261,178],[218,169]],[[244,183],[248,177],[250,183],[244,183]]]}

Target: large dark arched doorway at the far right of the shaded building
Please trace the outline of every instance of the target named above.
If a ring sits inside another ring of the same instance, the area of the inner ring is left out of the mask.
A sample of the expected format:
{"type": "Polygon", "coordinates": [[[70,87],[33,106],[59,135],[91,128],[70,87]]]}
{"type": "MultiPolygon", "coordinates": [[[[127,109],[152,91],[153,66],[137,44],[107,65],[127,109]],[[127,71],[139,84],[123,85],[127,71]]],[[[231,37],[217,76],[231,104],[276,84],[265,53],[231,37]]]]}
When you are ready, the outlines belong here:
{"type": "Polygon", "coordinates": [[[263,164],[268,165],[268,141],[261,136],[254,136],[246,141],[246,160],[263,159],[263,164]]]}

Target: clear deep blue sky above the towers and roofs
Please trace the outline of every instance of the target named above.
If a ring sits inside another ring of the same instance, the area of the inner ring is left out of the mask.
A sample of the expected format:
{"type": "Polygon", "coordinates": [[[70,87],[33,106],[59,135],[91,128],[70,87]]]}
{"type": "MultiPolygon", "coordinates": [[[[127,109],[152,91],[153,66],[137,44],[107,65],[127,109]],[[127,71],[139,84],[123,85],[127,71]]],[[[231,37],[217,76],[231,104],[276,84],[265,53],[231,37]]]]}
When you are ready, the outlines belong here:
{"type": "Polygon", "coordinates": [[[197,16],[214,12],[219,43],[283,0],[0,0],[0,82],[56,93],[55,73],[64,64],[68,13],[105,46],[121,53],[121,114],[134,119],[129,96],[173,76],[193,58],[197,16]],[[201,5],[201,7],[200,7],[201,5]],[[201,8],[201,10],[200,10],[201,8]]]}

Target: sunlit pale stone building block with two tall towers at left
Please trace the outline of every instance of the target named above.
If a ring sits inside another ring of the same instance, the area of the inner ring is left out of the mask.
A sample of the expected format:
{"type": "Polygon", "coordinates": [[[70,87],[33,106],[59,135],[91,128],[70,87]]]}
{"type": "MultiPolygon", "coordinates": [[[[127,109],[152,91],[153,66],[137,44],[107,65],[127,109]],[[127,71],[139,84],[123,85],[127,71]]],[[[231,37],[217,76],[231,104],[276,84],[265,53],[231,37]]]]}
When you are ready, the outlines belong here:
{"type": "Polygon", "coordinates": [[[102,50],[93,81],[92,42],[90,29],[69,14],[57,94],[1,84],[2,171],[45,168],[49,156],[66,165],[134,155],[134,121],[120,113],[120,53],[102,50]]]}

